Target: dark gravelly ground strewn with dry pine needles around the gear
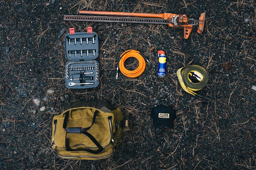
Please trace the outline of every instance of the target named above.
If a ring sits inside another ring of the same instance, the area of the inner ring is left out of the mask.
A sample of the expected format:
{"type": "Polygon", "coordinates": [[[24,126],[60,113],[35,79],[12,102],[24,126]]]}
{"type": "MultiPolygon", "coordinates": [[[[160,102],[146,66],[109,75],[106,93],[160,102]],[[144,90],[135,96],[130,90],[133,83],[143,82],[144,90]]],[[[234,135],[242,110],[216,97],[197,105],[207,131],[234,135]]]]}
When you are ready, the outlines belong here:
{"type": "Polygon", "coordinates": [[[255,7],[249,0],[1,1],[0,169],[256,169],[255,7]],[[193,28],[183,40],[182,30],[162,25],[63,21],[79,9],[172,12],[194,19],[206,11],[205,29],[198,34],[193,28]],[[99,35],[100,85],[69,90],[65,33],[59,39],[58,34],[88,26],[99,35]],[[151,64],[137,78],[121,74],[115,80],[117,59],[128,49],[144,53],[151,64]],[[157,50],[166,51],[165,78],[157,77],[157,50]],[[210,80],[198,93],[212,98],[210,103],[179,85],[176,71],[190,63],[207,70],[210,80]],[[51,88],[53,94],[47,93],[51,88]],[[52,118],[68,102],[92,99],[121,106],[134,130],[110,158],[58,158],[51,148],[52,118]],[[173,129],[153,127],[150,111],[159,104],[177,110],[173,129]]]}

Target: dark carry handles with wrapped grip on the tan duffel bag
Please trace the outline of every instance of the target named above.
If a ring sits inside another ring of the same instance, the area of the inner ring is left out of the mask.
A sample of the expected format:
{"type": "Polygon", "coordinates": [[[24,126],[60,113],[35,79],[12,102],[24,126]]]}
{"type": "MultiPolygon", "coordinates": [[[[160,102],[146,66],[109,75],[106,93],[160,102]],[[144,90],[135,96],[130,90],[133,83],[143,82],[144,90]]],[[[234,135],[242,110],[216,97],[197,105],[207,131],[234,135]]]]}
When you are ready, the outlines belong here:
{"type": "Polygon", "coordinates": [[[69,112],[63,113],[63,114],[65,114],[65,118],[64,118],[64,122],[63,122],[63,128],[67,132],[66,136],[65,136],[65,147],[66,147],[67,151],[87,151],[87,152],[90,152],[90,153],[93,153],[93,154],[99,154],[100,152],[102,152],[104,150],[104,148],[99,144],[99,142],[90,133],[87,132],[92,127],[92,125],[94,124],[94,122],[96,120],[96,115],[98,113],[99,113],[98,110],[96,110],[94,112],[92,124],[87,128],[81,128],[81,127],[79,127],[79,128],[77,128],[77,127],[67,128],[69,112]],[[93,141],[93,143],[96,144],[96,146],[99,148],[99,150],[94,151],[94,150],[90,150],[90,149],[88,149],[88,150],[74,150],[74,149],[71,149],[70,146],[69,146],[68,139],[67,139],[67,134],[68,133],[82,133],[82,134],[88,136],[91,139],[91,141],[93,141]]]}

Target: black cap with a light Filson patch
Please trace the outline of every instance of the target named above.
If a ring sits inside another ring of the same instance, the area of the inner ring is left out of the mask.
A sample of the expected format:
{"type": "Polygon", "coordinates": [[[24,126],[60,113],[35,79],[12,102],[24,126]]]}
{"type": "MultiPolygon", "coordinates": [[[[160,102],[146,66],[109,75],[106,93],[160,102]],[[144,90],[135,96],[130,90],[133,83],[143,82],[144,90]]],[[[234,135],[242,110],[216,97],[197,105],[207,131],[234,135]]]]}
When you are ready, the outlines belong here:
{"type": "Polygon", "coordinates": [[[163,126],[173,128],[176,111],[172,107],[160,105],[152,109],[151,117],[153,118],[155,127],[163,126]]]}

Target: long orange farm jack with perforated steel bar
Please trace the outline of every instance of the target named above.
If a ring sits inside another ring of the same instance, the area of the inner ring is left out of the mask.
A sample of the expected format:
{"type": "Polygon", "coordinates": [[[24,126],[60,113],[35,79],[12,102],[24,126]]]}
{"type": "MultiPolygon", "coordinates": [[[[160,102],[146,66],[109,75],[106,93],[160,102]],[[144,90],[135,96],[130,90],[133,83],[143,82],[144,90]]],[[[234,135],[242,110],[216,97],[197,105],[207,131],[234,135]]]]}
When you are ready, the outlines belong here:
{"type": "Polygon", "coordinates": [[[168,24],[170,28],[183,29],[184,39],[188,39],[193,26],[198,26],[197,32],[199,34],[202,34],[204,29],[204,23],[205,23],[205,12],[201,14],[201,16],[199,17],[199,20],[189,19],[187,15],[177,15],[172,13],[152,14],[152,13],[106,12],[106,11],[79,11],[79,13],[87,14],[87,15],[64,15],[64,20],[168,24]],[[100,16],[94,16],[94,15],[100,15],[100,16]]]}

